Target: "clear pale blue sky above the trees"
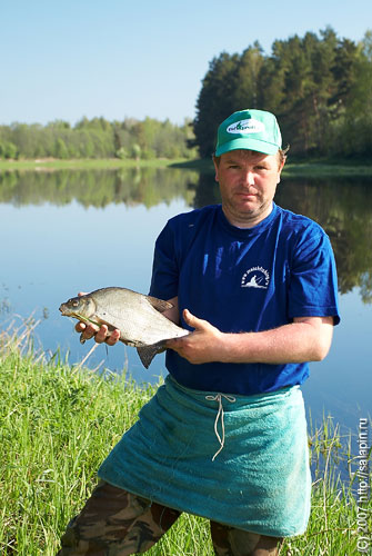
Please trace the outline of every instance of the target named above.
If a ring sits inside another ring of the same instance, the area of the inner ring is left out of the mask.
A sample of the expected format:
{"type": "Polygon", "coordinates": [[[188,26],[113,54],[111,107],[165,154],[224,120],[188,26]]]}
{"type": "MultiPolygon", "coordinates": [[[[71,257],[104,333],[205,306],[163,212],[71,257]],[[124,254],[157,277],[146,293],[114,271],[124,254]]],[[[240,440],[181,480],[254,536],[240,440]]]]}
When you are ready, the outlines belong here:
{"type": "Polygon", "coordinates": [[[213,57],[326,26],[360,41],[371,0],[0,0],[0,123],[181,123],[213,57]]]}

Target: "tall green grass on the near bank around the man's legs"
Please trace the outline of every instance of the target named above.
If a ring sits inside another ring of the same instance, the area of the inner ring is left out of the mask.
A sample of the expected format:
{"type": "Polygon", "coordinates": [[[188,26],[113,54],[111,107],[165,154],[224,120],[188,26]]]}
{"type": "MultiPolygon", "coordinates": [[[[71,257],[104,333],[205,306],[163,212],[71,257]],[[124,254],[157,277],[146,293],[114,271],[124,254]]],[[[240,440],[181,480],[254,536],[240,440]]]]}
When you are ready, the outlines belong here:
{"type": "MultiPolygon", "coordinates": [[[[32,348],[30,328],[28,322],[17,335],[0,334],[2,556],[57,553],[67,523],[95,484],[100,463],[155,390],[124,376],[71,368],[57,358],[47,363],[32,348]]],[[[351,473],[348,485],[338,480],[338,428],[325,421],[311,433],[310,445],[315,467],[310,525],[305,535],[285,540],[280,554],[358,554],[355,476],[351,473]]],[[[350,463],[350,447],[345,457],[350,463]]],[[[370,518],[371,509],[370,500],[370,518]]],[[[182,515],[148,554],[211,556],[208,522],[182,515]]]]}

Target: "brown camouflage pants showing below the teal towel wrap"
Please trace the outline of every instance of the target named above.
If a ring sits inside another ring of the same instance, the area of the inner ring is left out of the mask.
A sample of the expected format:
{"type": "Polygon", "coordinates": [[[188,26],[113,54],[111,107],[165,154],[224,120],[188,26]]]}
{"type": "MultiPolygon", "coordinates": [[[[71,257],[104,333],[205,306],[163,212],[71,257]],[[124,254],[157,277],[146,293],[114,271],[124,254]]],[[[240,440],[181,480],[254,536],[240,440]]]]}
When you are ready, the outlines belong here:
{"type": "MultiPolygon", "coordinates": [[[[82,512],[68,525],[57,556],[128,556],[144,553],[173,525],[180,512],[151,503],[101,480],[82,512]]],[[[275,537],[211,522],[218,556],[274,556],[275,537]]],[[[171,556],[171,555],[165,555],[171,556]]]]}

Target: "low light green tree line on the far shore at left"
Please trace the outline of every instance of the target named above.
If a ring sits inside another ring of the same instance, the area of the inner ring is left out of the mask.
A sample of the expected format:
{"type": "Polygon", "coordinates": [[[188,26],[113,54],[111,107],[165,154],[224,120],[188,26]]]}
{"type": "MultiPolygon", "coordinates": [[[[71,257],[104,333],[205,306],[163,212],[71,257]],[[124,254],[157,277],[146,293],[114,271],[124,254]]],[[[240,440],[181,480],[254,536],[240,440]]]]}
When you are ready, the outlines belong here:
{"type": "Polygon", "coordinates": [[[76,126],[61,120],[47,126],[16,122],[0,126],[0,158],[191,158],[192,138],[190,122],[177,126],[152,118],[113,122],[82,118],[76,126]]]}

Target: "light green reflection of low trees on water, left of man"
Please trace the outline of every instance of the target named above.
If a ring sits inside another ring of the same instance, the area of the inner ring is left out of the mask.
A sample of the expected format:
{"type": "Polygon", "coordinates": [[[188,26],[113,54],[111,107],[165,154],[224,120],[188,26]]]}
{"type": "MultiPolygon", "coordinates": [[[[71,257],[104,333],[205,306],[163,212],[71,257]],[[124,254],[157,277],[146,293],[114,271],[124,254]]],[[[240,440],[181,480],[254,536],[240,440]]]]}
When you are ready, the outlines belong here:
{"type": "Polygon", "coordinates": [[[84,207],[124,203],[150,208],[183,198],[190,205],[194,190],[189,183],[197,180],[197,172],[163,168],[0,172],[0,202],[61,206],[76,200],[84,207]]]}

